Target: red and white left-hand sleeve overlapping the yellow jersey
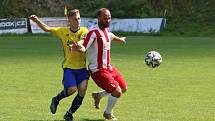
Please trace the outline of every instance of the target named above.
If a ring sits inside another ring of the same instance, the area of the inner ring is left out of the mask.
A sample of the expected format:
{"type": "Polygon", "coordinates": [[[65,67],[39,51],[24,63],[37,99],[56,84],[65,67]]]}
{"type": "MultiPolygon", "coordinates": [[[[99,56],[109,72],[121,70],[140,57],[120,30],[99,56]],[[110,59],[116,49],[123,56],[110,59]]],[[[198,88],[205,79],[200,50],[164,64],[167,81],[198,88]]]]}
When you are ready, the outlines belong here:
{"type": "Polygon", "coordinates": [[[86,38],[84,39],[84,43],[83,43],[83,46],[85,47],[86,50],[92,45],[95,38],[96,38],[96,35],[95,35],[94,31],[88,32],[86,38]]]}

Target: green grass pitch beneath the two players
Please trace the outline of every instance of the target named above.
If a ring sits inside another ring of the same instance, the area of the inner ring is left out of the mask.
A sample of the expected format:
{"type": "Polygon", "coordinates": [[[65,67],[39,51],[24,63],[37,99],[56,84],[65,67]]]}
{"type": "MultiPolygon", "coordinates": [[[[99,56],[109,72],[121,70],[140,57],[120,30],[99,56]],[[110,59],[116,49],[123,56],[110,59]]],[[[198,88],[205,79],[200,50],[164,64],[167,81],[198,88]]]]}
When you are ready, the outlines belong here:
{"type": "MultiPolygon", "coordinates": [[[[214,121],[215,38],[128,36],[127,44],[112,43],[112,64],[127,80],[128,91],[114,113],[119,121],[214,121]],[[148,68],[144,55],[161,53],[159,68],[148,68]]],[[[48,35],[0,36],[0,121],[59,121],[74,97],[63,100],[55,115],[51,98],[62,88],[63,52],[48,35]]],[[[103,121],[89,81],[76,121],[103,121]]]]}

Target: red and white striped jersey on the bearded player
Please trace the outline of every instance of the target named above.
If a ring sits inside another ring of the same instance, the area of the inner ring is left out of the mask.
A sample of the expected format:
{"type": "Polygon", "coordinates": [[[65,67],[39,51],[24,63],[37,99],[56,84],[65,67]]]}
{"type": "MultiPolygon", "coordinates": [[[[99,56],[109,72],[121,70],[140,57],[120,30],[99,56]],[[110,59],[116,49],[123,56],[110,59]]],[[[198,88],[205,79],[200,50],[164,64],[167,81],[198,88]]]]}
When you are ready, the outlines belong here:
{"type": "Polygon", "coordinates": [[[110,46],[115,35],[108,29],[101,30],[94,27],[90,30],[84,40],[84,47],[87,50],[87,58],[89,61],[89,69],[96,72],[99,69],[110,68],[110,46]]]}

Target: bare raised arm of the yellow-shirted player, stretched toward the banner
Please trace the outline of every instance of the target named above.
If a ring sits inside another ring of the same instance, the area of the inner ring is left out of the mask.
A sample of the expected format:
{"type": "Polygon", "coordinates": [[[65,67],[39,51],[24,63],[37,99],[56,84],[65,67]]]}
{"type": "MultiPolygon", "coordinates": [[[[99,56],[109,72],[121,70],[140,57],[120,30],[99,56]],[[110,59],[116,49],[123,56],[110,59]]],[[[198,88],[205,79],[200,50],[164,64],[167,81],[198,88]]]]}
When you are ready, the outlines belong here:
{"type": "Polygon", "coordinates": [[[31,19],[32,21],[34,21],[35,23],[37,23],[37,25],[44,30],[45,32],[51,32],[51,28],[46,25],[45,23],[43,23],[36,15],[31,15],[29,17],[29,19],[31,19]]]}

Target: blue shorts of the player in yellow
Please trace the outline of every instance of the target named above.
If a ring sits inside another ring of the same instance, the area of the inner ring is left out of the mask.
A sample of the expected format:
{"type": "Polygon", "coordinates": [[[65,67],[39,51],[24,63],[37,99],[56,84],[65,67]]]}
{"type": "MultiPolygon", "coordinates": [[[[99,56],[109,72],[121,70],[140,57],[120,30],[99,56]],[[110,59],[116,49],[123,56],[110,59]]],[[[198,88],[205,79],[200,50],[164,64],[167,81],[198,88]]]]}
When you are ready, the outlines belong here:
{"type": "Polygon", "coordinates": [[[63,69],[63,86],[65,89],[69,87],[77,87],[84,80],[89,80],[89,72],[86,68],[82,69],[63,69]]]}

